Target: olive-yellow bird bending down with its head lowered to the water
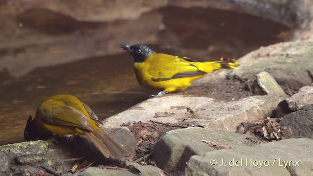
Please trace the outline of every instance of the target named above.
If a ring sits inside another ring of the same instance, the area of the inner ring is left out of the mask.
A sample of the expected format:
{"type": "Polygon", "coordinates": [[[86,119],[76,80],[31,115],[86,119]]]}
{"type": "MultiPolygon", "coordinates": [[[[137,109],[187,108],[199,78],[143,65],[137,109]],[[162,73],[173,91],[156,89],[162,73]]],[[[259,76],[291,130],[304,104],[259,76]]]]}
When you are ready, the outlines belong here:
{"type": "Polygon", "coordinates": [[[86,135],[107,158],[126,157],[129,154],[99,128],[102,124],[96,114],[72,95],[54,95],[46,98],[37,108],[36,116],[28,118],[26,141],[58,135],[86,135]]]}

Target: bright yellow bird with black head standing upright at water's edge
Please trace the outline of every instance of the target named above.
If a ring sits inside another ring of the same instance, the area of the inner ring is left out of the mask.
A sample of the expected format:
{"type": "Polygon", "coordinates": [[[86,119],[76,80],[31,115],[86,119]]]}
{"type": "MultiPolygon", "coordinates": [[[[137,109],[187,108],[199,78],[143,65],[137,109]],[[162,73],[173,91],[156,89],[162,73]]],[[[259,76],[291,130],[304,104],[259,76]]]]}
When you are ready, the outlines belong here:
{"type": "Polygon", "coordinates": [[[134,70],[137,81],[146,88],[163,89],[160,96],[177,89],[184,90],[195,79],[219,69],[238,69],[238,62],[196,62],[186,57],[156,53],[141,44],[124,45],[134,57],[134,70]]]}

